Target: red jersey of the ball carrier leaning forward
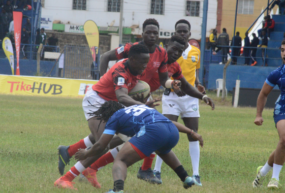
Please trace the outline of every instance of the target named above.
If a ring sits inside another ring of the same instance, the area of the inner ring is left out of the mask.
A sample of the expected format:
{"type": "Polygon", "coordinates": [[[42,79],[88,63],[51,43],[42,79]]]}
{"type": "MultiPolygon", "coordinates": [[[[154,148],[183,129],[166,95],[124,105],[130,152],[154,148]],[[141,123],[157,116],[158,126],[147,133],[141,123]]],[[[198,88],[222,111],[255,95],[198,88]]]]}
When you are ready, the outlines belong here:
{"type": "Polygon", "coordinates": [[[140,80],[142,75],[134,76],[129,72],[127,60],[128,59],[125,59],[113,65],[111,69],[92,86],[92,89],[103,99],[118,101],[115,91],[126,88],[129,92],[140,80]]]}

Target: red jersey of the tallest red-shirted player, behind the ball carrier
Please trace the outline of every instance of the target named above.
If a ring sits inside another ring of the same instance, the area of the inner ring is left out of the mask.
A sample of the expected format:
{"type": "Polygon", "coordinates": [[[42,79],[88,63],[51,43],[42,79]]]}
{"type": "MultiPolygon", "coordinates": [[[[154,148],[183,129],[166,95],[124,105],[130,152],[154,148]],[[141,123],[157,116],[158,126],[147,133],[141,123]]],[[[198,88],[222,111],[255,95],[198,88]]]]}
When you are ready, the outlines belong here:
{"type": "MultiPolygon", "coordinates": [[[[143,41],[135,43],[126,43],[125,46],[119,47],[116,49],[117,59],[128,58],[128,52],[132,45],[135,44],[144,44],[143,41]]],[[[156,50],[153,53],[150,53],[150,60],[147,64],[147,68],[144,70],[144,75],[142,75],[142,81],[149,83],[154,74],[158,75],[158,72],[167,72],[167,53],[166,50],[156,45],[156,50]]],[[[158,84],[159,78],[158,78],[158,84]]]]}

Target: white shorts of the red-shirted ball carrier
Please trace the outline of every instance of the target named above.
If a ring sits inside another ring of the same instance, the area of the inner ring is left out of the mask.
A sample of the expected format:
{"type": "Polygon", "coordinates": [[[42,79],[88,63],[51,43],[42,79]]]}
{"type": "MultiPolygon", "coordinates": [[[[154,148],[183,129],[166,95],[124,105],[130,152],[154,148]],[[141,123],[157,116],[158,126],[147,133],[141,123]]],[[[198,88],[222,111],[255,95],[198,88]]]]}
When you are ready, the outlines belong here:
{"type": "Polygon", "coordinates": [[[100,108],[99,105],[96,107],[91,106],[91,104],[88,101],[91,104],[96,105],[96,104],[104,104],[104,102],[106,102],[107,100],[105,100],[101,96],[99,96],[96,93],[96,91],[94,91],[93,89],[91,89],[90,91],[87,91],[87,93],[84,96],[83,101],[82,101],[82,107],[83,107],[84,115],[85,115],[85,118],[87,121],[92,118],[87,113],[95,112],[100,108]]]}

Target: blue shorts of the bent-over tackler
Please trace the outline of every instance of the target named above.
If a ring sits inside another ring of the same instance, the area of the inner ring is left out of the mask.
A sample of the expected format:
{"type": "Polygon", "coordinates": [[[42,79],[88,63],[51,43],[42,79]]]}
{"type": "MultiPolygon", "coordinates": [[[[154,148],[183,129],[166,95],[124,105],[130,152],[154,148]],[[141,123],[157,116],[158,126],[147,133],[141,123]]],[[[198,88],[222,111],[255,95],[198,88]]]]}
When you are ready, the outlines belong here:
{"type": "Polygon", "coordinates": [[[156,122],[143,126],[129,142],[149,157],[153,152],[167,154],[179,141],[179,131],[172,122],[156,122]]]}

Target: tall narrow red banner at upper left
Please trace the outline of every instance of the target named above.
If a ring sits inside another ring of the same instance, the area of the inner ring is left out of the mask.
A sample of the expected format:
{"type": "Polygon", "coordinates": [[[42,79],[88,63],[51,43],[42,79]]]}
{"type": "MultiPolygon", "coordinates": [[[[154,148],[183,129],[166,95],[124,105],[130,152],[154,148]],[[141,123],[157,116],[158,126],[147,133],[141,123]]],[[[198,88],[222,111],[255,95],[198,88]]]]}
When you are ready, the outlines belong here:
{"type": "Polygon", "coordinates": [[[14,36],[15,36],[16,56],[17,56],[16,75],[20,75],[19,58],[20,58],[20,45],[21,45],[22,18],[23,18],[22,12],[13,11],[14,36]]]}

